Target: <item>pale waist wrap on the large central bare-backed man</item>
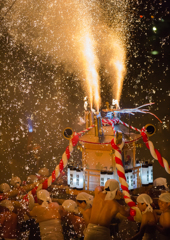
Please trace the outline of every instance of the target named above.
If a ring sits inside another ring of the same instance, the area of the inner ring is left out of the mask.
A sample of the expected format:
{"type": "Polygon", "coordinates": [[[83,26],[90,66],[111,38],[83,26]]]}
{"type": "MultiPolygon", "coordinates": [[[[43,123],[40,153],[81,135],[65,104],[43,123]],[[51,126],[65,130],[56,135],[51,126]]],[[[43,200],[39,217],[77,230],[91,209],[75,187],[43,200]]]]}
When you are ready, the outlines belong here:
{"type": "Polygon", "coordinates": [[[84,240],[110,240],[110,229],[104,226],[89,223],[84,240]]]}

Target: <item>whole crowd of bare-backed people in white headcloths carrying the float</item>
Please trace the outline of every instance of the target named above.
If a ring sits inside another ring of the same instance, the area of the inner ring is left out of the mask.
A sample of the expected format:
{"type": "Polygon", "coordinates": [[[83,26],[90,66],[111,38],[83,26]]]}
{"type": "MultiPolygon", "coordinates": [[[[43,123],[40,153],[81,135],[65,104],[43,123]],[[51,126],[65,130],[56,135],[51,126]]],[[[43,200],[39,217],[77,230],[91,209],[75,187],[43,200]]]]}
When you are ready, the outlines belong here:
{"type": "MultiPolygon", "coordinates": [[[[29,176],[27,184],[21,187],[18,177],[11,179],[16,194],[10,198],[10,186],[0,185],[0,191],[8,198],[0,202],[0,239],[10,240],[168,240],[170,239],[170,192],[163,191],[158,197],[158,207],[146,193],[136,198],[136,206],[141,212],[141,222],[134,236],[111,234],[113,219],[127,219],[132,209],[123,200],[119,182],[109,179],[104,187],[98,186],[94,196],[81,191],[75,200],[67,199],[62,204],[54,201],[50,192],[37,191],[37,203],[28,206],[22,201],[22,194],[33,185],[44,180],[48,173],[29,176]],[[33,184],[33,185],[32,185],[33,184]]],[[[134,212],[133,212],[134,213],[134,212]]],[[[118,230],[119,231],[119,228],[118,230]]]]}

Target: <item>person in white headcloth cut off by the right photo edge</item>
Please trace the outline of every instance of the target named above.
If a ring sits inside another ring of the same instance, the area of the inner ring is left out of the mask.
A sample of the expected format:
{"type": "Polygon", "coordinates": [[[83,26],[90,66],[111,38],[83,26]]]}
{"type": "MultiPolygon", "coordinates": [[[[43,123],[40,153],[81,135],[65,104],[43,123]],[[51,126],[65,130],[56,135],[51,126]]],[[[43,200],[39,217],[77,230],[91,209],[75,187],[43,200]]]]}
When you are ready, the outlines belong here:
{"type": "Polygon", "coordinates": [[[162,214],[159,217],[158,231],[161,239],[170,239],[170,193],[162,193],[158,199],[158,205],[162,214]]]}

